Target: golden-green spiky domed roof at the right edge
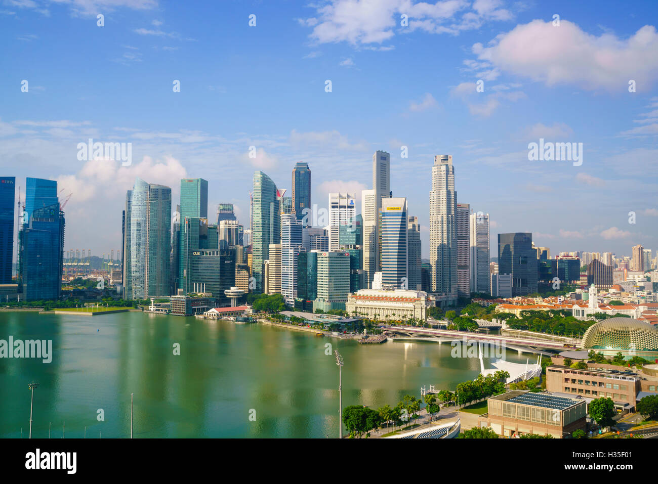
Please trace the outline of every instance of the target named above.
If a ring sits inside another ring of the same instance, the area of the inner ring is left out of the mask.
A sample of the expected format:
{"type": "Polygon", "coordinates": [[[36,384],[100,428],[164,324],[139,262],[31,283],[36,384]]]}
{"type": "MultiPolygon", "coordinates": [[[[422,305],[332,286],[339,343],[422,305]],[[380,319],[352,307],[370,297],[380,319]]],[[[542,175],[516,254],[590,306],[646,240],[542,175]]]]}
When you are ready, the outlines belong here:
{"type": "Polygon", "coordinates": [[[582,338],[582,347],[613,351],[658,351],[658,328],[632,318],[610,318],[588,327],[582,338]]]}

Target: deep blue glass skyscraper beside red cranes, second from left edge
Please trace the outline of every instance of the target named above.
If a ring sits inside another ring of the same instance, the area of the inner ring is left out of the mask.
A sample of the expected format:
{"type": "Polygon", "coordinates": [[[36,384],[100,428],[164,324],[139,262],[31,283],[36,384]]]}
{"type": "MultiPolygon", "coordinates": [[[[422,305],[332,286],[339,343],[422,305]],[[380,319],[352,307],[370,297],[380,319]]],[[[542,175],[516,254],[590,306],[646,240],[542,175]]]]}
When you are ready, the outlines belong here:
{"type": "Polygon", "coordinates": [[[28,178],[26,185],[25,216],[20,232],[24,300],[59,299],[64,267],[64,212],[57,198],[57,182],[28,178]]]}

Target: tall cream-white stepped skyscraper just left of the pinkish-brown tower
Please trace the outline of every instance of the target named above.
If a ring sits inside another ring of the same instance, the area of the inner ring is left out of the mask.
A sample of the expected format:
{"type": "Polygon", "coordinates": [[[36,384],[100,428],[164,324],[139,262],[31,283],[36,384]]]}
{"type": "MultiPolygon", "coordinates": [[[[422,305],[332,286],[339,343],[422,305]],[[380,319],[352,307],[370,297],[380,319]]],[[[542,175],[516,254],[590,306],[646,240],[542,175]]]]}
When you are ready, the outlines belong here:
{"type": "Polygon", "coordinates": [[[436,155],[430,191],[430,264],[432,292],[457,298],[457,192],[452,155],[436,155]]]}

